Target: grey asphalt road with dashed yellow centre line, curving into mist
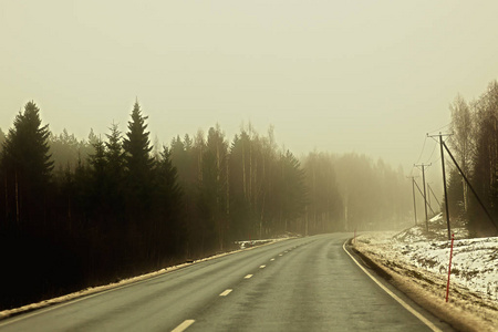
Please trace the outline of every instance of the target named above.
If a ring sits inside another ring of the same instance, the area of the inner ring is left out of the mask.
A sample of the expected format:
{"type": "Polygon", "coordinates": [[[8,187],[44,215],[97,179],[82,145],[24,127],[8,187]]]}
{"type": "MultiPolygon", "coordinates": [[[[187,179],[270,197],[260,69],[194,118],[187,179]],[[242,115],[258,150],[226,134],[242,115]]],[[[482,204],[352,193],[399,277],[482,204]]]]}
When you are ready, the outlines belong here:
{"type": "Polygon", "coordinates": [[[436,330],[429,328],[370,279],[343,250],[349,236],[292,239],[195,263],[0,321],[0,332],[450,330],[404,299],[436,330]]]}

